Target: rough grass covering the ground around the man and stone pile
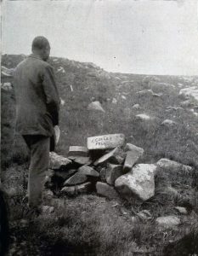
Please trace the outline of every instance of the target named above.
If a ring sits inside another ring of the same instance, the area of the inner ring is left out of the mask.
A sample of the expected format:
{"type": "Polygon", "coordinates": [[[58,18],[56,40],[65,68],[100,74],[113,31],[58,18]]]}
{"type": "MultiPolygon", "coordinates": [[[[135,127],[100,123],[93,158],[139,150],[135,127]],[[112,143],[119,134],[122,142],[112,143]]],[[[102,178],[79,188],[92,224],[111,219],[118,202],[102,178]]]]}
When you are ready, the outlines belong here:
{"type": "MultiPolygon", "coordinates": [[[[19,61],[17,55],[6,55],[2,62],[6,67],[14,67],[19,61]]],[[[105,201],[94,193],[72,199],[55,197],[49,201],[55,207],[53,214],[24,227],[25,206],[21,201],[27,186],[28,151],[20,135],[14,132],[14,92],[2,90],[1,165],[3,184],[10,196],[11,252],[13,255],[57,255],[58,251],[58,255],[161,255],[163,247],[169,248],[169,241],[178,241],[188,234],[198,220],[197,117],[190,113],[191,107],[167,111],[167,107],[179,107],[184,102],[184,97],[178,95],[177,84],[185,87],[191,82],[161,76],[158,77],[161,82],[174,84],[176,88],[156,90],[160,97],[139,96],[139,90],[150,89],[151,78],[105,73],[64,59],[52,63],[55,69],[61,66],[66,71],[57,73],[60,96],[65,100],[60,110],[59,154],[66,155],[70,145],[86,145],[89,136],[122,132],[127,143],[144,148],[142,162],[154,163],[167,157],[192,166],[193,172],[158,172],[155,196],[140,205],[119,201],[115,206],[115,201],[105,201]],[[88,73],[97,75],[91,77],[88,73]],[[105,113],[88,111],[93,98],[102,103],[105,113]],[[113,98],[116,104],[112,103],[113,98]],[[140,108],[133,109],[137,103],[140,108]],[[139,113],[154,119],[144,123],[135,118],[139,113]],[[176,125],[161,125],[165,119],[172,119],[176,125]],[[175,206],[186,207],[188,215],[180,216],[173,209],[175,206]],[[134,223],[132,207],[135,212],[150,210],[152,218],[134,223]],[[181,218],[178,229],[160,230],[155,219],[172,214],[181,218]]],[[[191,100],[192,106],[196,104],[191,100]]]]}

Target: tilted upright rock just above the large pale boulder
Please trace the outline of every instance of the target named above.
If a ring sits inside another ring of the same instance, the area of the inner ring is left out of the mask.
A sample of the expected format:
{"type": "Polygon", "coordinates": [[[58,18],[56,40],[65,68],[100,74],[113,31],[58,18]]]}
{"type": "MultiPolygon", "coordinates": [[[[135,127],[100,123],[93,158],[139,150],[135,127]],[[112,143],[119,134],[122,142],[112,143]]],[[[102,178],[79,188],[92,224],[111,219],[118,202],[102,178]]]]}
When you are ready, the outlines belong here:
{"type": "Polygon", "coordinates": [[[133,144],[127,144],[126,149],[130,149],[127,151],[127,157],[124,162],[123,172],[129,172],[134,164],[139,160],[139,158],[144,154],[144,149],[136,147],[133,144]]]}

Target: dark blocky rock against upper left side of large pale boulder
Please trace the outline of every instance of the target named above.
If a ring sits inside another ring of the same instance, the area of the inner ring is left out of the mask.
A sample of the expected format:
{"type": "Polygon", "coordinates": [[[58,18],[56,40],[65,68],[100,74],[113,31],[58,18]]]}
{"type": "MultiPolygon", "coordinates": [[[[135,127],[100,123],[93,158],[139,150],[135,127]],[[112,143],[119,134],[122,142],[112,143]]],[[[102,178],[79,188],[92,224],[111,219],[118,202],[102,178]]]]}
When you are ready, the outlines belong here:
{"type": "Polygon", "coordinates": [[[114,185],[116,179],[120,176],[122,176],[122,166],[108,164],[105,176],[106,182],[110,185],[114,185]]]}

